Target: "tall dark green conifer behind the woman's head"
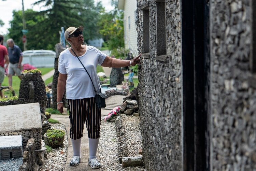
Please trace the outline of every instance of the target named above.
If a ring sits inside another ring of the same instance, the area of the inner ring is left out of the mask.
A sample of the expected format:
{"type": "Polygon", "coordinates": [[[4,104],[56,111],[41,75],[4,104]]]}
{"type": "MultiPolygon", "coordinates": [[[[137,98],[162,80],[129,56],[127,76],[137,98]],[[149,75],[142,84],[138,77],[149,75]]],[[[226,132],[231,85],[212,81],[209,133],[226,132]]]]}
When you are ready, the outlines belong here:
{"type": "Polygon", "coordinates": [[[61,27],[67,29],[71,26],[83,26],[83,20],[79,15],[81,0],[39,0],[34,5],[42,5],[46,10],[37,14],[45,19],[37,23],[42,44],[47,44],[45,49],[55,49],[55,44],[59,42],[59,31],[61,27]]]}

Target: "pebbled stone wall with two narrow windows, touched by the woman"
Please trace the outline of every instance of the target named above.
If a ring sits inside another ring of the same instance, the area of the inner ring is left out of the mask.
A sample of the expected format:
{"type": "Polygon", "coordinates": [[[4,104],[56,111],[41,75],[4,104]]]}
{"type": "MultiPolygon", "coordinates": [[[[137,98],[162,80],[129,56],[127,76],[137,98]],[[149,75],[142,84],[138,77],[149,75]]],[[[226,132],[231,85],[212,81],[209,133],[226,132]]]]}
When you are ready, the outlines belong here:
{"type": "Polygon", "coordinates": [[[156,3],[137,1],[138,52],[143,53],[141,6],[150,10],[150,57],[141,58],[139,104],[146,170],[182,170],[180,0],[166,1],[166,62],[156,60],[156,3]]]}

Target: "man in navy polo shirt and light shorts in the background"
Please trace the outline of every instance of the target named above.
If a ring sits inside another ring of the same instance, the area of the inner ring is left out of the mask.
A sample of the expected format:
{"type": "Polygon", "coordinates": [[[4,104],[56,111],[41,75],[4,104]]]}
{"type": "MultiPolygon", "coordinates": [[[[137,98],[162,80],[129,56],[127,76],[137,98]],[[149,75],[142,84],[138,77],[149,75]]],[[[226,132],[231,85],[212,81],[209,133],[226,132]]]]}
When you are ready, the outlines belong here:
{"type": "Polygon", "coordinates": [[[12,76],[16,74],[21,80],[21,63],[22,63],[22,51],[19,46],[14,44],[13,39],[7,39],[6,41],[9,54],[9,66],[8,66],[8,83],[9,86],[12,86],[12,76]]]}

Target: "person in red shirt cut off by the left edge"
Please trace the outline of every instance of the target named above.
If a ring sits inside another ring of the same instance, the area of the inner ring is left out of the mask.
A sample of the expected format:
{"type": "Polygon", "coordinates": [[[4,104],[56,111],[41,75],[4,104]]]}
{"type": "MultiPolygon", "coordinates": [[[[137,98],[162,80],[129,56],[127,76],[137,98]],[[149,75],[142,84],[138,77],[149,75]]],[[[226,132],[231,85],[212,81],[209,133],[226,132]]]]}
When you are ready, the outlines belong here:
{"type": "MultiPolygon", "coordinates": [[[[4,64],[6,67],[9,64],[8,52],[5,46],[3,46],[3,36],[0,34],[0,87],[4,79],[4,64]]],[[[0,96],[3,98],[2,91],[0,91],[0,96]]]]}

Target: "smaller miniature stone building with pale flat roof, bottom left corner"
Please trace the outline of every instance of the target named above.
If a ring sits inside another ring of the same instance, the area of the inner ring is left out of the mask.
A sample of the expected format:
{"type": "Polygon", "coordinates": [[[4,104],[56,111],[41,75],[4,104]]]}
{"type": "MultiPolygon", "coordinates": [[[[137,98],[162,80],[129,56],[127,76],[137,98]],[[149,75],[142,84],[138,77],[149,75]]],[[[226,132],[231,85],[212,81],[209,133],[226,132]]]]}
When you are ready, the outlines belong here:
{"type": "Polygon", "coordinates": [[[22,157],[22,136],[0,137],[0,160],[22,157]]]}

